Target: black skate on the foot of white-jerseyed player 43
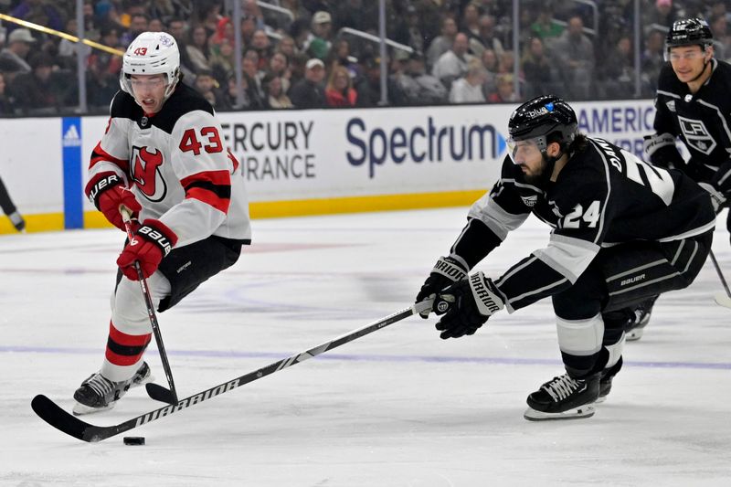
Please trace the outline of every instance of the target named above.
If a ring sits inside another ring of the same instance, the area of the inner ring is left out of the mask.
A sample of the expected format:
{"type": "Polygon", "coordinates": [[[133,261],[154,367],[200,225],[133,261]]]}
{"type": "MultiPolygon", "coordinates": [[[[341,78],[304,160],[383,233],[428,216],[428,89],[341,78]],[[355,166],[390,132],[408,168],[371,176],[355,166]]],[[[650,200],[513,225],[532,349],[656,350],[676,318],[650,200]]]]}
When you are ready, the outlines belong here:
{"type": "Polygon", "coordinates": [[[142,386],[153,380],[147,362],[140,365],[132,378],[121,382],[112,382],[99,372],[92,374],[74,392],[74,399],[77,402],[73,413],[75,416],[81,416],[114,408],[130,387],[142,386]]]}

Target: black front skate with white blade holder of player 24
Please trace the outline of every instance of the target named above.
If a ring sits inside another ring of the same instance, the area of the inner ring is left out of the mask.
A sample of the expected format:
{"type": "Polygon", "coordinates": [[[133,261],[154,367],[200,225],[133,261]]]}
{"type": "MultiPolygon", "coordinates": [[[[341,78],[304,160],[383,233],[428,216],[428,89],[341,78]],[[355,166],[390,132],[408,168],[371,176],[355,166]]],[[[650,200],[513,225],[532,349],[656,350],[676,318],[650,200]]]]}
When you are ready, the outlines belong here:
{"type": "Polygon", "coordinates": [[[574,419],[594,416],[591,406],[599,397],[599,374],[583,379],[568,375],[554,377],[528,396],[530,408],[523,417],[529,421],[574,419]]]}

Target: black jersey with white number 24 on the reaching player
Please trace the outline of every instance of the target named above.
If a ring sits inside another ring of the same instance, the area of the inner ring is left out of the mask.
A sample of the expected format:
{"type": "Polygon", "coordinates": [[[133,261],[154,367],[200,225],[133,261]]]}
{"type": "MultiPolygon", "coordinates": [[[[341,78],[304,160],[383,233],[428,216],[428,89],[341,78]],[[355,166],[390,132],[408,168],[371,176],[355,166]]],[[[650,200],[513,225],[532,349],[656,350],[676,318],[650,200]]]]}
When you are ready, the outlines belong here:
{"type": "Polygon", "coordinates": [[[681,171],[655,167],[588,138],[586,148],[572,154],[546,188],[525,183],[520,167],[505,157],[500,181],[471,206],[452,255],[472,267],[530,213],[553,230],[546,249],[535,250],[495,280],[510,312],[565,291],[602,247],[678,240],[715,227],[707,193],[681,171]]]}

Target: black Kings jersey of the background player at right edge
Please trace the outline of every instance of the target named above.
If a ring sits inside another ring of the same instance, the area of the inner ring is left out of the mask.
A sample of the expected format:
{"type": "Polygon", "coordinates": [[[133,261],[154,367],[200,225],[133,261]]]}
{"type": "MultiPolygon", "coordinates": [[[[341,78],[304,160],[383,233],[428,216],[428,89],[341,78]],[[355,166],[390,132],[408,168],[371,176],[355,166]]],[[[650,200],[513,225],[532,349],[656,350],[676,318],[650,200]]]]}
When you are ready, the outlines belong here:
{"type": "Polygon", "coordinates": [[[654,129],[680,137],[691,154],[688,174],[710,181],[731,158],[731,65],[711,60],[713,73],[695,94],[670,64],[660,71],[654,129]]]}

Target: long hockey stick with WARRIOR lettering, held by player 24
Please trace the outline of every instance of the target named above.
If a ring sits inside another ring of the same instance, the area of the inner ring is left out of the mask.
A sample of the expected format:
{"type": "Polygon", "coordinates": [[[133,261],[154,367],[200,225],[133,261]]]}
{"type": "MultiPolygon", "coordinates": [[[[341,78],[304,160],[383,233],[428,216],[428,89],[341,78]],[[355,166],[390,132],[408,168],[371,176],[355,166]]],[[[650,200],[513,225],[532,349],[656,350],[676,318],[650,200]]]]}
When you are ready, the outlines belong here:
{"type": "Polygon", "coordinates": [[[324,352],[332,350],[342,344],[352,342],[355,339],[360,338],[361,336],[365,336],[368,333],[376,332],[377,330],[380,330],[381,328],[384,328],[389,324],[400,322],[401,320],[408,318],[411,315],[427,311],[431,308],[432,302],[433,300],[418,302],[405,310],[395,312],[387,316],[386,318],[378,320],[374,323],[367,324],[363,328],[358,328],[353,332],[341,335],[334,340],[319,344],[299,354],[291,355],[278,362],[274,362],[273,364],[266,365],[258,370],[249,372],[248,374],[244,374],[243,376],[238,376],[237,378],[229,380],[228,382],[224,382],[223,384],[210,387],[202,392],[194,394],[193,396],[185,397],[184,399],[178,401],[178,403],[175,405],[154,409],[153,411],[144,413],[143,415],[129,419],[118,425],[91,425],[69,414],[64,409],[60,408],[58,404],[41,394],[33,398],[30,406],[41,419],[46,421],[55,429],[63,431],[67,435],[70,435],[76,439],[81,439],[82,441],[89,441],[91,443],[94,443],[97,441],[101,441],[102,439],[107,439],[112,436],[118,435],[120,433],[123,433],[124,431],[143,426],[147,423],[151,423],[153,421],[156,421],[157,419],[164,418],[165,416],[170,416],[177,411],[181,411],[185,408],[190,408],[191,406],[200,404],[201,402],[210,399],[211,397],[216,397],[221,394],[227,393],[228,391],[233,390],[238,386],[249,384],[249,382],[260,379],[263,376],[269,376],[270,374],[279,372],[280,370],[287,368],[291,365],[296,365],[304,362],[308,358],[313,358],[314,356],[323,354],[324,352]]]}

